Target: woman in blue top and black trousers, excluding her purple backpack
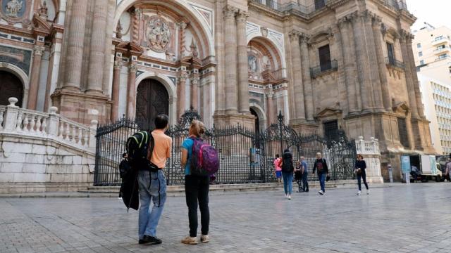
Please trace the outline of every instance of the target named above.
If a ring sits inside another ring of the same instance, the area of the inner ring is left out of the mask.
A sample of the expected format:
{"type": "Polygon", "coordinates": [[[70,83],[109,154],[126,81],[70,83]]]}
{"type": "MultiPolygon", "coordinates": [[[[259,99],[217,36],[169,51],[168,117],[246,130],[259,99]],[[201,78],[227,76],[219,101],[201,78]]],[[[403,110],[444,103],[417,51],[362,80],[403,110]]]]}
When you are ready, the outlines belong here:
{"type": "Polygon", "coordinates": [[[189,138],[182,144],[182,168],[185,169],[185,195],[190,221],[190,235],[182,240],[188,245],[197,245],[197,205],[200,209],[201,242],[209,242],[209,180],[210,176],[192,175],[192,146],[194,138],[202,138],[205,133],[204,123],[193,120],[188,130],[189,138]]]}

